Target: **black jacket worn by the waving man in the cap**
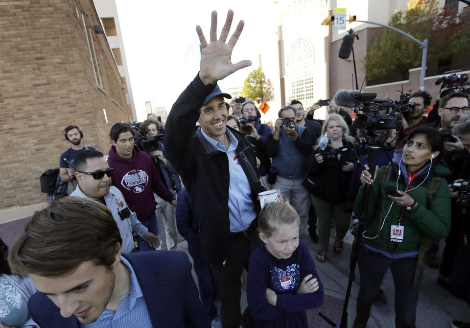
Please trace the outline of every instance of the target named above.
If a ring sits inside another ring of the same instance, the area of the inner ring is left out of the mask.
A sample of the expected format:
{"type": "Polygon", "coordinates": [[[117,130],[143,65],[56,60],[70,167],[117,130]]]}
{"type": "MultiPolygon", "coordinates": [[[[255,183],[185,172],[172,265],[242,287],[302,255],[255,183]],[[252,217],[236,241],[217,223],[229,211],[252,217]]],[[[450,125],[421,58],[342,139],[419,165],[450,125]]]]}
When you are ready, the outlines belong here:
{"type": "MultiPolygon", "coordinates": [[[[227,258],[230,244],[229,163],[227,155],[213,147],[200,129],[193,134],[204,100],[214,88],[214,85],[205,86],[199,75],[194,78],[168,115],[164,145],[168,160],[180,173],[191,196],[202,258],[221,264],[227,258]]],[[[230,131],[238,141],[236,154],[259,211],[258,193],[265,188],[258,180],[255,153],[247,138],[233,129],[230,131]]]]}

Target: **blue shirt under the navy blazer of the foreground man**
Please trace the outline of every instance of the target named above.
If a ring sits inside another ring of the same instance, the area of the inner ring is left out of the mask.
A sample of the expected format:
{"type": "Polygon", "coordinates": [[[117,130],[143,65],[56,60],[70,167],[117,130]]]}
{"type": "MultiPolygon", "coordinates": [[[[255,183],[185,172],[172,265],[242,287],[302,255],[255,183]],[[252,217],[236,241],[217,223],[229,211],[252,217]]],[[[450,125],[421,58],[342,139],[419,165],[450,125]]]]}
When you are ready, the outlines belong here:
{"type": "Polygon", "coordinates": [[[80,324],[82,328],[152,328],[147,305],[137,276],[131,264],[123,257],[121,262],[127,266],[131,273],[131,289],[129,295],[121,301],[116,312],[104,310],[98,320],[91,324],[80,324]]]}

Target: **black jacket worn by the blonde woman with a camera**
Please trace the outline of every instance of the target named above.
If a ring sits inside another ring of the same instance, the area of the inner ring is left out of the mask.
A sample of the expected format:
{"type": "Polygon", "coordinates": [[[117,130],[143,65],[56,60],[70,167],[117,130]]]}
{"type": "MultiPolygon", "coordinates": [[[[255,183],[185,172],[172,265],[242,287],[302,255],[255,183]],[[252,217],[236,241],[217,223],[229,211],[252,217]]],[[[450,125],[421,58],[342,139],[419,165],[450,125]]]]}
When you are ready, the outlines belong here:
{"type": "Polygon", "coordinates": [[[303,186],[314,196],[334,204],[344,203],[348,198],[352,171],[344,172],[342,167],[346,165],[346,162],[354,163],[357,160],[354,154],[354,145],[344,140],[343,145],[343,148],[348,148],[345,151],[340,151],[339,161],[332,160],[319,164],[315,159],[315,154],[318,151],[312,151],[305,164],[308,177],[303,186]]]}

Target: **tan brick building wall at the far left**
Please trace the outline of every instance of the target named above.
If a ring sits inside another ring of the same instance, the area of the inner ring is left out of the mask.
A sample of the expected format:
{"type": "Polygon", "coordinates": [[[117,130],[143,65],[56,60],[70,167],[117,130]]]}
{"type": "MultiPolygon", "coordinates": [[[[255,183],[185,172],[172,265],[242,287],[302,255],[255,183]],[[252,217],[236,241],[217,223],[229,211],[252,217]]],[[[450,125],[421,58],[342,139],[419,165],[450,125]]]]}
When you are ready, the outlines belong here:
{"type": "Polygon", "coordinates": [[[125,82],[94,25],[92,0],[0,2],[0,211],[46,201],[39,177],[71,146],[67,125],[107,154],[111,126],[132,119],[125,82]]]}

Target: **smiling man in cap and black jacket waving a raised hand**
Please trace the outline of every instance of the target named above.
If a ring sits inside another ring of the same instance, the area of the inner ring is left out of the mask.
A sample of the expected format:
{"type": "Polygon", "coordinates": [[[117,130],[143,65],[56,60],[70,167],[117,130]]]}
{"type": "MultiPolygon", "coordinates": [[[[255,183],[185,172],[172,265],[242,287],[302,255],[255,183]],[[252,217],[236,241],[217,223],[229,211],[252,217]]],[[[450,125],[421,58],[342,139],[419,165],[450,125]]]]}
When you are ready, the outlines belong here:
{"type": "Polygon", "coordinates": [[[211,264],[221,295],[224,328],[240,325],[240,276],[259,244],[257,198],[264,190],[250,142],[227,127],[224,98],[231,96],[217,86],[217,81],[251,65],[249,60],[232,63],[232,50],[244,25],[240,21],[226,43],[233,17],[229,10],[217,40],[217,12],[212,12],[209,44],[196,26],[202,47],[200,71],[174,103],[164,136],[167,158],[194,205],[201,255],[211,264]],[[194,133],[196,122],[200,128],[194,133]]]}

